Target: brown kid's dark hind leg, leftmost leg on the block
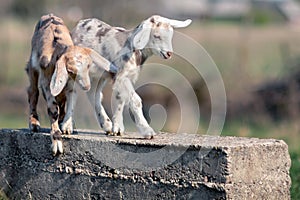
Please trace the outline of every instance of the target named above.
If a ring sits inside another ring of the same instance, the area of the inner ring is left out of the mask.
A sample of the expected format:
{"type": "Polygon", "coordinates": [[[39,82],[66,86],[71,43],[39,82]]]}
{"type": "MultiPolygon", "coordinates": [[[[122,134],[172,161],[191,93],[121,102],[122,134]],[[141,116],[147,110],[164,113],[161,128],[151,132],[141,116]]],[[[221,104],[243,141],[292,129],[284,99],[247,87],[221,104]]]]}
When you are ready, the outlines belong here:
{"type": "Polygon", "coordinates": [[[39,73],[37,70],[34,70],[32,66],[29,65],[27,67],[27,73],[30,80],[30,85],[27,90],[29,109],[30,109],[29,129],[30,131],[33,132],[39,132],[40,122],[39,122],[39,116],[37,114],[37,103],[39,99],[39,88],[38,88],[39,73]]]}

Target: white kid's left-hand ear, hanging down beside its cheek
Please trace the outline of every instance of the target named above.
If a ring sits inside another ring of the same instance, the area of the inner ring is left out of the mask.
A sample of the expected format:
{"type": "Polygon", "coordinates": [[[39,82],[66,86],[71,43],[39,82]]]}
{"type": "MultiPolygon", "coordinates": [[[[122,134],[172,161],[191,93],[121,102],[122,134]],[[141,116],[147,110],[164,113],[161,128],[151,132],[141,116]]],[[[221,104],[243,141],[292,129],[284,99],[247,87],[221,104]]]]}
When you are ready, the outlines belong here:
{"type": "Polygon", "coordinates": [[[135,35],[133,36],[133,47],[135,49],[143,49],[147,45],[150,39],[151,26],[149,22],[144,22],[143,25],[137,28],[135,35]]]}

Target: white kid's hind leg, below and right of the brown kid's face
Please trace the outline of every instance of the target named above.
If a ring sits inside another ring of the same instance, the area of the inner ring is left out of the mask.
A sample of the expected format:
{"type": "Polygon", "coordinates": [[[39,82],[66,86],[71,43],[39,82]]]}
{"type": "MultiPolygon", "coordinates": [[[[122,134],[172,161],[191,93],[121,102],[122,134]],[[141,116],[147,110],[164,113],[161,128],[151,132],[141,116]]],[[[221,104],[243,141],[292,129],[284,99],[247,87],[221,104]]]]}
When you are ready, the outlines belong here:
{"type": "Polygon", "coordinates": [[[98,80],[91,80],[91,89],[88,91],[88,98],[93,106],[95,106],[95,115],[98,120],[100,127],[106,132],[106,134],[111,134],[112,132],[112,122],[108,117],[103,105],[103,93],[102,90],[107,82],[106,78],[101,78],[98,80]]]}

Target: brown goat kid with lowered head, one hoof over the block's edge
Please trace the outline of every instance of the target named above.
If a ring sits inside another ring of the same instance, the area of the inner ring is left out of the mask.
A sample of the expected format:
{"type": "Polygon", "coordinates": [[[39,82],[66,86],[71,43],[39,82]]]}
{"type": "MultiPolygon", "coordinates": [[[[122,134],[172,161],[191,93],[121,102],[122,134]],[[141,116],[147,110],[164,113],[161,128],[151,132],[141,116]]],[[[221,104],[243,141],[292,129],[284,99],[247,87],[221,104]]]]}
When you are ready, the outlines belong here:
{"type": "Polygon", "coordinates": [[[29,128],[40,129],[37,114],[39,87],[47,102],[51,123],[53,155],[63,153],[61,122],[64,134],[73,132],[73,109],[76,100],[74,82],[88,91],[89,71],[94,73],[114,69],[109,61],[92,49],[74,46],[68,28],[53,14],[41,17],[31,40],[31,55],[26,71],[29,77],[29,128]]]}

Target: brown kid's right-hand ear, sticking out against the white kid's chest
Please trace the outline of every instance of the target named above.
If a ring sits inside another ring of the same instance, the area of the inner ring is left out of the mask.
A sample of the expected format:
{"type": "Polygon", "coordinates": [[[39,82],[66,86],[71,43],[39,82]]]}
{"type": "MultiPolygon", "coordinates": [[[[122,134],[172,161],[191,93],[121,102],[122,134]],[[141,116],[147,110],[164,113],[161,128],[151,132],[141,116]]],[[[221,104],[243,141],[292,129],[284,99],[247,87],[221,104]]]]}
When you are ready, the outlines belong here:
{"type": "Polygon", "coordinates": [[[113,73],[117,72],[116,66],[111,64],[111,62],[109,62],[107,59],[105,59],[101,55],[99,55],[95,50],[90,49],[90,48],[86,48],[86,50],[89,52],[89,55],[90,55],[92,61],[97,65],[97,67],[100,70],[110,71],[113,73]]]}

